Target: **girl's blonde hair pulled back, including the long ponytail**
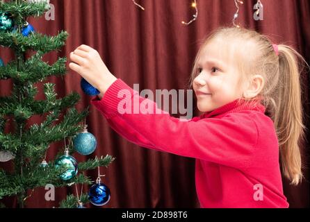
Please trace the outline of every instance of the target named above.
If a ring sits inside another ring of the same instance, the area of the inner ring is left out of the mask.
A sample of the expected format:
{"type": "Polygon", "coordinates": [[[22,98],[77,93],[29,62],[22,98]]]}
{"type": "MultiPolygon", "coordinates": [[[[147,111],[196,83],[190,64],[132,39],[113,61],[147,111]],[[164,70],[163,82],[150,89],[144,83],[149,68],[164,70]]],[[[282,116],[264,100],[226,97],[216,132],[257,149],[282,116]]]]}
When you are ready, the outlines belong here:
{"type": "Polygon", "coordinates": [[[277,132],[282,173],[293,185],[297,185],[302,180],[300,142],[306,129],[302,120],[300,74],[309,65],[300,53],[285,44],[278,45],[277,56],[266,35],[246,28],[222,27],[206,37],[200,47],[190,76],[190,87],[197,76],[200,54],[213,40],[220,41],[219,47],[226,47],[225,53],[230,53],[230,58],[242,74],[240,83],[246,83],[254,74],[263,77],[264,86],[259,95],[242,99],[265,105],[277,132]]]}

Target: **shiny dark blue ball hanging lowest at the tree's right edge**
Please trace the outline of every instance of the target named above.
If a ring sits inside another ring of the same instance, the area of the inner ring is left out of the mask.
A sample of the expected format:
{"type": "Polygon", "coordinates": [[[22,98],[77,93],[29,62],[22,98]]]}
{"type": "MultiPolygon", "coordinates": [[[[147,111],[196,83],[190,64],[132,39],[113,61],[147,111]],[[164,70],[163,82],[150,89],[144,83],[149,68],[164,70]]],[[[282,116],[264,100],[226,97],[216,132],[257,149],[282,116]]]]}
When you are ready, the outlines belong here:
{"type": "Polygon", "coordinates": [[[110,189],[100,181],[92,185],[88,191],[88,200],[97,207],[106,205],[111,199],[110,189]]]}

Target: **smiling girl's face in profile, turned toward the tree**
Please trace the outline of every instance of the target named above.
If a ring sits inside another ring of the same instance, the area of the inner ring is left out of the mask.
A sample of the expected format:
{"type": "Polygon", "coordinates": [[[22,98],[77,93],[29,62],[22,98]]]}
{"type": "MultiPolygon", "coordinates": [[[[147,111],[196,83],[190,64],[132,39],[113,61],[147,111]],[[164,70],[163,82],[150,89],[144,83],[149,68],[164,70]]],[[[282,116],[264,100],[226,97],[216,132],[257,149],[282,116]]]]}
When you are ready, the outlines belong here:
{"type": "Polygon", "coordinates": [[[211,112],[243,96],[243,89],[238,86],[240,72],[228,59],[228,52],[225,54],[220,48],[219,42],[207,44],[197,61],[193,88],[200,112],[211,112]]]}

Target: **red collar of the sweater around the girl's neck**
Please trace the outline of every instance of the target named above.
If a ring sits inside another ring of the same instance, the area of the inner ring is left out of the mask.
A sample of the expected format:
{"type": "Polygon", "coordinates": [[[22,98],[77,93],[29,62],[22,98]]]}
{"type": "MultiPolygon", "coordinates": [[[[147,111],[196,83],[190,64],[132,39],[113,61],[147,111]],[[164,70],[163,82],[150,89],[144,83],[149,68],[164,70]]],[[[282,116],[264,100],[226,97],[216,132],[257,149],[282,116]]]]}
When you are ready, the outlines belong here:
{"type": "Polygon", "coordinates": [[[246,101],[245,99],[236,99],[235,101],[227,103],[226,105],[222,105],[220,108],[217,108],[211,112],[205,112],[202,115],[202,118],[215,117],[221,114],[227,114],[243,110],[255,110],[263,113],[266,112],[265,106],[262,105],[259,100],[246,101]]]}

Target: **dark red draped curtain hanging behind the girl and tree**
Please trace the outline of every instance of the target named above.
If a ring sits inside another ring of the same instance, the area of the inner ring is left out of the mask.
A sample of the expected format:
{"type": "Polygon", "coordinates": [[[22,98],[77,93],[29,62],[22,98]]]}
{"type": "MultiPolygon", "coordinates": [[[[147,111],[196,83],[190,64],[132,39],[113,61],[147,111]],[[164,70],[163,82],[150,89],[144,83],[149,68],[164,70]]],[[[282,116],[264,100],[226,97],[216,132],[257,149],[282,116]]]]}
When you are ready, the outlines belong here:
{"type": "MultiPolygon", "coordinates": [[[[186,89],[188,78],[199,44],[204,36],[219,26],[231,26],[236,12],[234,0],[197,0],[199,15],[196,22],[184,26],[181,21],[193,18],[195,10],[190,0],[137,1],[145,11],[131,0],[51,0],[55,6],[55,20],[29,19],[36,30],[56,35],[60,30],[70,33],[66,46],[60,53],[49,53],[44,60],[55,62],[58,56],[69,56],[80,44],[88,44],[99,51],[110,71],[129,86],[139,83],[142,89],[186,89]]],[[[253,19],[255,0],[245,0],[240,6],[238,22],[269,35],[275,43],[295,47],[310,60],[310,3],[307,0],[261,0],[264,6],[263,21],[253,19]]],[[[4,62],[13,59],[13,53],[1,48],[4,62]]],[[[65,78],[49,78],[56,83],[58,96],[72,91],[81,94],[79,110],[90,105],[90,97],[79,87],[80,77],[68,71],[65,78]]],[[[309,109],[309,78],[302,76],[304,110],[309,109]]],[[[42,83],[38,84],[44,99],[42,83]]],[[[12,90],[10,80],[0,81],[0,95],[12,90]]],[[[195,107],[195,100],[193,103],[195,107]]],[[[198,115],[197,108],[194,115],[198,115]]],[[[30,123],[40,122],[33,117],[30,123]]],[[[108,169],[104,183],[111,189],[111,201],[105,207],[199,207],[195,193],[195,160],[140,148],[117,135],[109,128],[101,114],[90,108],[88,130],[97,137],[97,150],[90,157],[110,154],[116,157],[108,169]]],[[[307,128],[309,118],[306,117],[307,128]]],[[[6,130],[10,130],[7,126],[6,130]]],[[[307,137],[309,138],[309,132],[307,137]]],[[[51,144],[47,160],[53,160],[63,142],[51,144]]],[[[304,142],[304,163],[309,162],[309,143],[304,142]]],[[[77,160],[85,157],[74,155],[77,160]]],[[[0,167],[12,169],[11,163],[0,167]]],[[[96,179],[97,171],[88,176],[96,179]]],[[[306,180],[293,187],[284,179],[284,192],[291,207],[309,207],[309,169],[306,180]]],[[[81,187],[79,186],[79,190],[81,187]]],[[[88,187],[84,187],[87,191],[88,187]]],[[[28,207],[58,207],[67,193],[75,194],[74,187],[56,189],[56,200],[46,201],[44,188],[28,191],[28,207]]],[[[15,197],[0,200],[7,207],[15,207],[15,197]]],[[[88,206],[90,207],[90,206],[88,206]]]]}

